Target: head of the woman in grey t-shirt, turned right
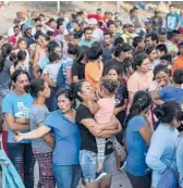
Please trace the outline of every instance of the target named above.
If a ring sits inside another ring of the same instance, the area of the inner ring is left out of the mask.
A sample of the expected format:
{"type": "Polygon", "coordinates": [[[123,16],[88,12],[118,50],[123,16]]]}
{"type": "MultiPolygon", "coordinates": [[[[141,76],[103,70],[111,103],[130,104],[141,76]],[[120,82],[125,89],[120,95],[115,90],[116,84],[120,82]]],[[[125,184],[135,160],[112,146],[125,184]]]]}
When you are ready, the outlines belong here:
{"type": "Polygon", "coordinates": [[[30,82],[30,95],[35,98],[45,98],[50,97],[50,88],[48,83],[42,78],[34,78],[30,82]]]}

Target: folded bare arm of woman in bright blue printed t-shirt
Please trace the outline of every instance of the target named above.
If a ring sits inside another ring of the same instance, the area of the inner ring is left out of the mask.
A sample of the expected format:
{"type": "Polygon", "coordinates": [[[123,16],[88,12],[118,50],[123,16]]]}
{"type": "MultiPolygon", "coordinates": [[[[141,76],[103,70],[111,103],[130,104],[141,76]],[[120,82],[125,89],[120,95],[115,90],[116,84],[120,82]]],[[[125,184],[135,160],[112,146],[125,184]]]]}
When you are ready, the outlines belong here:
{"type": "Polygon", "coordinates": [[[14,116],[10,113],[5,113],[4,118],[11,130],[16,130],[16,131],[29,130],[28,124],[16,123],[14,116]]]}

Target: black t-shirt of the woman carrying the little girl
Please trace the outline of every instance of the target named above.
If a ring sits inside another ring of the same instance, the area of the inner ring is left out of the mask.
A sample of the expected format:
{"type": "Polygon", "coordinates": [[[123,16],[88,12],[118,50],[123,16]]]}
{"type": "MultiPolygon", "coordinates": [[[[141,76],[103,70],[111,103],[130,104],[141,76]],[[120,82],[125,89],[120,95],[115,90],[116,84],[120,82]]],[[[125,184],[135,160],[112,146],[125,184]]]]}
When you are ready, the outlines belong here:
{"type": "MultiPolygon", "coordinates": [[[[80,104],[76,111],[75,121],[76,124],[78,125],[82,138],[81,150],[88,150],[97,153],[97,143],[95,136],[91,135],[91,133],[83,124],[81,124],[81,121],[85,118],[94,118],[94,115],[90,113],[87,106],[80,104]]],[[[110,154],[111,152],[113,152],[112,142],[107,140],[105,154],[110,154]]]]}

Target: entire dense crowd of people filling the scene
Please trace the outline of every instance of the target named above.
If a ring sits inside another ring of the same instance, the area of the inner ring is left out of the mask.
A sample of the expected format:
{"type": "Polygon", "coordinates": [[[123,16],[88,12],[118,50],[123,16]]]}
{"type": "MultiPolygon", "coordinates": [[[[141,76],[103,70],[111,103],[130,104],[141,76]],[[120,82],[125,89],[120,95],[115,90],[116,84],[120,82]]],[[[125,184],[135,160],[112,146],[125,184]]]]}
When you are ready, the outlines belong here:
{"type": "Polygon", "coordinates": [[[25,188],[36,161],[37,188],[109,188],[118,171],[183,187],[183,11],[169,10],[16,13],[0,36],[1,133],[25,188]]]}

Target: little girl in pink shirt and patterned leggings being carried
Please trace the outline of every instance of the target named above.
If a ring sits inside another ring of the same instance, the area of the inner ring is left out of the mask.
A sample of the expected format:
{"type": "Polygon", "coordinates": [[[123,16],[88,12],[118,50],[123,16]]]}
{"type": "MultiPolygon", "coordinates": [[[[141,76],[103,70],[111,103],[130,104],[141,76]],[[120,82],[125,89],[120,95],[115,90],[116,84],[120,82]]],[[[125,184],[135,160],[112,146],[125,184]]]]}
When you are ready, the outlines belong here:
{"type": "MultiPolygon", "coordinates": [[[[90,105],[89,110],[95,114],[97,123],[109,123],[112,120],[114,111],[114,95],[118,89],[118,82],[112,79],[102,79],[99,88],[100,99],[97,101],[97,104],[90,105]]],[[[95,128],[95,127],[93,127],[95,128]]],[[[119,155],[122,154],[123,148],[118,142],[115,137],[109,139],[113,143],[113,148],[117,150],[119,155]]],[[[97,138],[97,150],[98,150],[98,168],[96,173],[96,180],[99,180],[107,174],[103,172],[103,161],[105,161],[105,150],[106,150],[106,139],[97,138]]]]}

